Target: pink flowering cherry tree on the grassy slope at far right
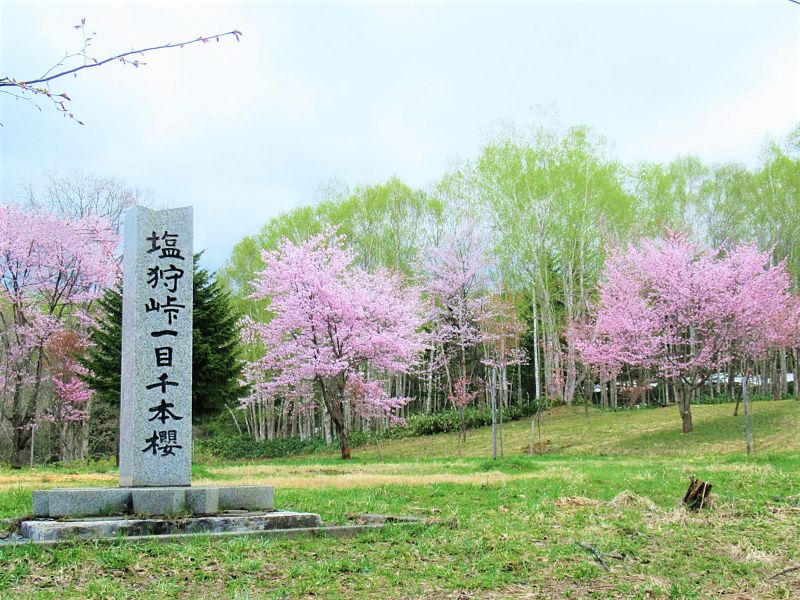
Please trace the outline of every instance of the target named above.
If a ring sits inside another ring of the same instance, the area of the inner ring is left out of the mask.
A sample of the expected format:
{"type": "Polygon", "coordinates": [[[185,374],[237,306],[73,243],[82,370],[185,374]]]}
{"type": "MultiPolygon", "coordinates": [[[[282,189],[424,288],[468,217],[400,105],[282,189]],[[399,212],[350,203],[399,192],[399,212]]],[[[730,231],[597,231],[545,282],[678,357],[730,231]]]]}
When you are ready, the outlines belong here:
{"type": "Polygon", "coordinates": [[[771,266],[769,253],[670,233],[610,252],[594,314],[569,335],[601,378],[627,365],[669,382],[687,433],[692,392],[732,359],[789,343],[795,305],[785,265],[771,266]]]}

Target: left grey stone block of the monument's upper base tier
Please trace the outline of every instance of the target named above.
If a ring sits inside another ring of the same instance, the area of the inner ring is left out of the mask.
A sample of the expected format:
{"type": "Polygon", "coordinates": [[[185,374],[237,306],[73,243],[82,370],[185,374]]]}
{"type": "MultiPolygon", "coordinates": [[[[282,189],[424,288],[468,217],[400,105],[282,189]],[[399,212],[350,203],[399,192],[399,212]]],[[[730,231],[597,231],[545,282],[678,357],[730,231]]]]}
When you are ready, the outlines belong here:
{"type": "Polygon", "coordinates": [[[130,490],[55,489],[33,492],[33,514],[49,517],[112,515],[130,511],[130,490]]]}

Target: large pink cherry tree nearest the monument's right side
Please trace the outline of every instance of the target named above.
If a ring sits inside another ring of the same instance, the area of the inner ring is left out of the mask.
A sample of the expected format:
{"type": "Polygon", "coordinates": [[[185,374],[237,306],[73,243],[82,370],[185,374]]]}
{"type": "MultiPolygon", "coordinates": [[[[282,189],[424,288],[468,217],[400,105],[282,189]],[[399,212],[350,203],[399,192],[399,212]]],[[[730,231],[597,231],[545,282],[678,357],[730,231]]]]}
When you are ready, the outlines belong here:
{"type": "Polygon", "coordinates": [[[408,372],[417,361],[419,294],[398,275],[356,268],[353,252],[331,231],[301,244],[284,239],[262,258],[266,268],[253,296],[268,301],[272,318],[249,325],[265,348],[258,365],[267,377],[259,392],[297,398],[294,391],[312,385],[348,459],[346,408],[395,418],[407,401],[390,397],[381,375],[408,372]]]}

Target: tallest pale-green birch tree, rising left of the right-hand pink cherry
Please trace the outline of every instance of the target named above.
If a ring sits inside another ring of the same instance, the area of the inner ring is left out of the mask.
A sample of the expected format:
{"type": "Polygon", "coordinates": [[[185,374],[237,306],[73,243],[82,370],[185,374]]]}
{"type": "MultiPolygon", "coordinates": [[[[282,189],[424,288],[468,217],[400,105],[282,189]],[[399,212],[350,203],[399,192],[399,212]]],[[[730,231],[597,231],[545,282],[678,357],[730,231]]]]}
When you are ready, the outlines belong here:
{"type": "Polygon", "coordinates": [[[571,403],[583,374],[563,331],[586,312],[605,245],[631,227],[634,198],[622,165],[587,127],[512,128],[442,189],[491,228],[503,288],[530,294],[531,395],[571,403]]]}

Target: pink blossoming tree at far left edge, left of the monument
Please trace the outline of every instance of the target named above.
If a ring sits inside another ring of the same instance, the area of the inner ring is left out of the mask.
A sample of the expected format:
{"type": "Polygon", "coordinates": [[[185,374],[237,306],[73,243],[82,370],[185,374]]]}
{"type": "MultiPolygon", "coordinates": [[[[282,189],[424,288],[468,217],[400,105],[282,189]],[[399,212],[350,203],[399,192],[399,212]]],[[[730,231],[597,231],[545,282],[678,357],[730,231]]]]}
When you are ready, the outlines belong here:
{"type": "Polygon", "coordinates": [[[101,219],[0,206],[0,416],[12,430],[14,467],[43,414],[45,347],[114,283],[117,247],[101,219]]]}

